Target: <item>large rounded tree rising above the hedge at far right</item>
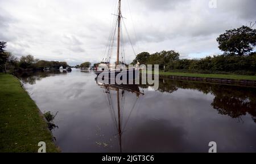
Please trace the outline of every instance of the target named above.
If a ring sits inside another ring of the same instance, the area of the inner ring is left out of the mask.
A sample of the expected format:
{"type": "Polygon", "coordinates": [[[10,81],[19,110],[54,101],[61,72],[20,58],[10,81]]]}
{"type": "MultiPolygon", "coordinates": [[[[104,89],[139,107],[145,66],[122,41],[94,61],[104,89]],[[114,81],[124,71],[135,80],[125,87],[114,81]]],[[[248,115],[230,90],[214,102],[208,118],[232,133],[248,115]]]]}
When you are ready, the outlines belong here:
{"type": "Polygon", "coordinates": [[[256,46],[256,29],[242,26],[230,29],[217,38],[220,50],[228,54],[244,55],[250,53],[256,46]]]}

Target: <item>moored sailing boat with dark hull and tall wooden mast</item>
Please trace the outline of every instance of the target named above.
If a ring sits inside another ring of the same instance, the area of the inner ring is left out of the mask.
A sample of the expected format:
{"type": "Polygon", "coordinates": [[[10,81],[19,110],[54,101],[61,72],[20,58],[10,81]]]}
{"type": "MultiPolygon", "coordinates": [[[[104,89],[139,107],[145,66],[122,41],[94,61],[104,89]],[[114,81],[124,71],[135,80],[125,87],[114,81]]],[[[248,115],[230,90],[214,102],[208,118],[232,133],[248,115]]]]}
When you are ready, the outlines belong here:
{"type": "Polygon", "coordinates": [[[101,75],[102,77],[107,76],[109,78],[116,77],[118,74],[121,74],[122,77],[126,76],[125,77],[126,79],[135,80],[138,78],[139,70],[141,70],[142,68],[139,68],[139,63],[137,63],[135,67],[127,68],[127,64],[125,63],[125,50],[123,46],[123,36],[122,36],[122,24],[124,23],[122,23],[123,16],[121,12],[121,0],[118,0],[118,14],[115,16],[117,16],[117,19],[115,19],[113,23],[113,31],[110,33],[110,44],[109,44],[108,54],[105,54],[107,55],[107,57],[106,58],[104,57],[104,59],[98,65],[94,73],[97,75],[97,77],[101,75]],[[113,51],[116,33],[117,33],[117,60],[115,61],[114,64],[111,64],[110,59],[112,58],[112,51],[113,51]],[[123,50],[121,50],[121,46],[123,50]]]}

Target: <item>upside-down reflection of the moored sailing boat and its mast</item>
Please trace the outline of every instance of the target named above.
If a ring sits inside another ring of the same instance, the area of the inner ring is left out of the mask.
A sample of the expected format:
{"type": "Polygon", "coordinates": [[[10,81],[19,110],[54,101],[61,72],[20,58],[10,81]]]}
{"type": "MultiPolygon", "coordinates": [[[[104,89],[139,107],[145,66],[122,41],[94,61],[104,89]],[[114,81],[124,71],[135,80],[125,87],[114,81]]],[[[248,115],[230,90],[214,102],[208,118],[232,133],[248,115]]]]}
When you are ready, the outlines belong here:
{"type": "Polygon", "coordinates": [[[105,84],[102,81],[98,81],[96,79],[97,85],[99,85],[101,88],[105,89],[104,93],[107,94],[107,100],[110,105],[110,111],[113,116],[115,127],[117,128],[118,132],[118,141],[119,141],[119,152],[122,153],[122,134],[125,131],[125,128],[127,126],[127,122],[131,116],[131,113],[133,112],[135,105],[138,101],[138,98],[140,95],[144,95],[139,89],[139,85],[117,85],[117,84],[105,84]],[[111,96],[111,91],[114,91],[117,93],[117,107],[115,108],[113,104],[113,97],[111,96]],[[123,113],[125,113],[125,93],[130,92],[134,93],[137,96],[137,100],[135,101],[132,109],[129,112],[129,117],[127,118],[126,122],[123,123],[123,113]]]}

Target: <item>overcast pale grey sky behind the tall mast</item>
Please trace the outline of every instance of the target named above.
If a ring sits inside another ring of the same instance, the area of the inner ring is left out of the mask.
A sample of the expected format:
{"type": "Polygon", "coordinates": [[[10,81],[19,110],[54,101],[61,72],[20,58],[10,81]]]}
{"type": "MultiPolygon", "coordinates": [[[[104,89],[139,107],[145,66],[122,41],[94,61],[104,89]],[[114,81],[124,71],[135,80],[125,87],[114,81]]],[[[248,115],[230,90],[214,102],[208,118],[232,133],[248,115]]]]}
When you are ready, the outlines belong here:
{"type": "MultiPolygon", "coordinates": [[[[0,0],[0,40],[20,57],[100,62],[118,0],[0,0]]],[[[256,20],[255,0],[122,0],[136,53],[176,50],[182,58],[220,54],[216,38],[256,20]],[[212,1],[213,3],[209,2],[212,1]],[[216,8],[215,8],[216,7],[216,8]]],[[[126,62],[135,58],[125,39],[126,62]]]]}

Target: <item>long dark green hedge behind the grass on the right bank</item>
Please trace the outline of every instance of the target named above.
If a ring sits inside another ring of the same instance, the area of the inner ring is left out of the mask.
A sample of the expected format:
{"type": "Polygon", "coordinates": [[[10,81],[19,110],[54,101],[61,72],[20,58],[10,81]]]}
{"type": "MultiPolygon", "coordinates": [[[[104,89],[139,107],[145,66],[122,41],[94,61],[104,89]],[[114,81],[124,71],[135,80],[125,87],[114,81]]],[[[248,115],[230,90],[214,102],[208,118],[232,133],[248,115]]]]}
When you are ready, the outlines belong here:
{"type": "Polygon", "coordinates": [[[203,59],[181,59],[170,62],[167,66],[170,72],[190,72],[199,74],[256,74],[256,54],[217,55],[203,59]]]}

